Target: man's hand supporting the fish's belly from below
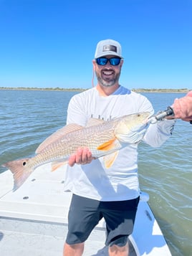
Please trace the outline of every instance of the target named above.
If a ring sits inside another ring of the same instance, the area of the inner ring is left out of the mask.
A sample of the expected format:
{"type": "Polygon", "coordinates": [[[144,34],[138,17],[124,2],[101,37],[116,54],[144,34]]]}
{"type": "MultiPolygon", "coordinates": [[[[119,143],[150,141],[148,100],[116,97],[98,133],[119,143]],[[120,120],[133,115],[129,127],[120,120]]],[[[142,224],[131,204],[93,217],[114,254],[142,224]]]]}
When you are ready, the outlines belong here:
{"type": "Polygon", "coordinates": [[[89,148],[78,148],[77,152],[69,157],[68,164],[69,166],[74,166],[77,164],[86,164],[90,163],[94,159],[89,148]]]}

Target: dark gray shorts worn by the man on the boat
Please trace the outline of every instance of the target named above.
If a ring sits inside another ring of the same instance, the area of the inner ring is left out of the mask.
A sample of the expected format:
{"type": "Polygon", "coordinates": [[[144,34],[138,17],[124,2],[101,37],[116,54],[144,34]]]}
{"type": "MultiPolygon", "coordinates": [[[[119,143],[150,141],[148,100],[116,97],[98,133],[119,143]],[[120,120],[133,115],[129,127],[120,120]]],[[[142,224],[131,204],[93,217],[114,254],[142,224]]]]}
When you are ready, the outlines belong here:
{"type": "Polygon", "coordinates": [[[85,242],[102,217],[106,222],[105,245],[124,246],[133,232],[137,199],[100,202],[73,194],[68,214],[68,245],[85,242]]]}

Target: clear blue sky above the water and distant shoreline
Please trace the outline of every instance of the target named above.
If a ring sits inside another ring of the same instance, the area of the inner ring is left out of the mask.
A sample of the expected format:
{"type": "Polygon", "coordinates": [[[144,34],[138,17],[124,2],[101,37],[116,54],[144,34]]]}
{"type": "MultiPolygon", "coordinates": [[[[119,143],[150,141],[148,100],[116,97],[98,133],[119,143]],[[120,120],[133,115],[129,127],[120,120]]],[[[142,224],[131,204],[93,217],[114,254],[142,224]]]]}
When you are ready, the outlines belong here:
{"type": "Polygon", "coordinates": [[[121,85],[192,89],[191,0],[0,0],[0,35],[0,87],[90,88],[97,42],[115,39],[121,85]]]}

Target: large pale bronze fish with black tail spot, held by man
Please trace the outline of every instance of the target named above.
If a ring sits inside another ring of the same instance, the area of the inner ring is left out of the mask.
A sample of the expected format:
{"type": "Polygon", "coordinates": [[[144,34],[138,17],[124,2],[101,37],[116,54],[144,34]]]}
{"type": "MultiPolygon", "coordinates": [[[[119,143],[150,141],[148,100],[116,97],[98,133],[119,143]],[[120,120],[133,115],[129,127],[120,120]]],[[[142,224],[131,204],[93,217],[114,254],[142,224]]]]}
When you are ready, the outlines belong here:
{"type": "Polygon", "coordinates": [[[78,148],[89,148],[93,158],[103,156],[105,167],[112,166],[121,148],[139,143],[148,127],[149,112],[123,115],[110,120],[90,118],[87,125],[65,125],[52,133],[37,148],[32,158],[4,163],[14,177],[13,191],[19,189],[30,174],[45,163],[52,162],[52,171],[68,162],[78,148]]]}

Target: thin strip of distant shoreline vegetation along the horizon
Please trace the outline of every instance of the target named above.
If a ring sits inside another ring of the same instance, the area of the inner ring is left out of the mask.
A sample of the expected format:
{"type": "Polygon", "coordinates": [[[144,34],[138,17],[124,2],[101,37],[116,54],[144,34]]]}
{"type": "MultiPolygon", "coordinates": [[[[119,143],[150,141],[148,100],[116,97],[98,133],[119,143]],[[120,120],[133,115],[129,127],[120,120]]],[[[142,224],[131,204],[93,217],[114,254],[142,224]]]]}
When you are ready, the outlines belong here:
{"type": "MultiPolygon", "coordinates": [[[[87,89],[83,88],[59,88],[59,87],[47,87],[47,88],[39,88],[39,87],[0,87],[0,90],[62,90],[62,91],[83,91],[87,89]]],[[[134,92],[138,93],[188,93],[190,91],[187,88],[181,89],[145,89],[145,88],[133,88],[134,92]]]]}

